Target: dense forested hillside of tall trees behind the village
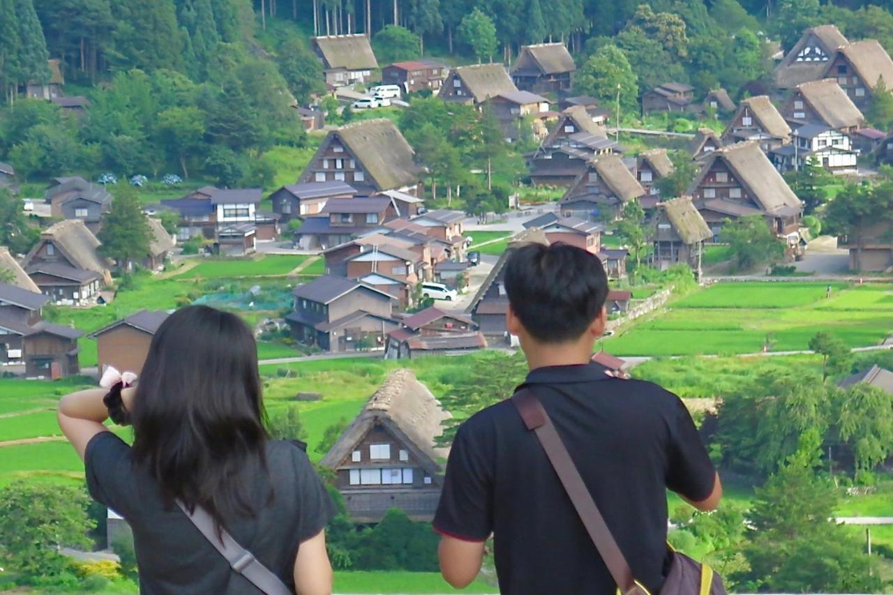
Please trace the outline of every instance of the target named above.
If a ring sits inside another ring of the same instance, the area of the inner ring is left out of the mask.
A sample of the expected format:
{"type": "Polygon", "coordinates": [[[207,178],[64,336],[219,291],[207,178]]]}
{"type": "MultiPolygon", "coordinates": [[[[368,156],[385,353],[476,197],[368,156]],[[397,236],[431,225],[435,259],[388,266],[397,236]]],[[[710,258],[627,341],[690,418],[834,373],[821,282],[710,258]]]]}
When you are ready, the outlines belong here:
{"type": "Polygon", "coordinates": [[[314,32],[370,32],[381,66],[422,54],[509,63],[524,44],[560,39],[577,63],[576,92],[613,105],[620,88],[623,112],[636,113],[641,92],[666,80],[697,94],[764,93],[772,55],[823,22],[893,50],[889,8],[859,0],[0,0],[0,160],[21,180],[177,172],[269,188],[275,172],[257,157],[305,146],[292,106],[325,91],[308,43],[314,32]],[[27,82],[50,80],[48,58],[62,61],[66,96],[86,96],[85,117],[21,98],[27,82]]]}

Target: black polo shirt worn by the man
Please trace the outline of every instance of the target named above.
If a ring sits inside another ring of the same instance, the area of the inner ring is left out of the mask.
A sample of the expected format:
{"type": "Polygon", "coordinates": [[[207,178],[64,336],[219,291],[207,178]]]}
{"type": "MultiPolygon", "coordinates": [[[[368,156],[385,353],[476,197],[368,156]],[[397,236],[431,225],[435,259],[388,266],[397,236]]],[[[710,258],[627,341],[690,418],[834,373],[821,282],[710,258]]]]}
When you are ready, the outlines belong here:
{"type": "MultiPolygon", "coordinates": [[[[539,368],[537,391],[589,492],[649,591],[663,585],[666,488],[691,500],[714,487],[714,465],[680,398],[597,364],[539,368]]],[[[616,586],[545,451],[509,401],[456,433],[434,526],[467,541],[492,532],[499,588],[613,595],[616,586]]]]}

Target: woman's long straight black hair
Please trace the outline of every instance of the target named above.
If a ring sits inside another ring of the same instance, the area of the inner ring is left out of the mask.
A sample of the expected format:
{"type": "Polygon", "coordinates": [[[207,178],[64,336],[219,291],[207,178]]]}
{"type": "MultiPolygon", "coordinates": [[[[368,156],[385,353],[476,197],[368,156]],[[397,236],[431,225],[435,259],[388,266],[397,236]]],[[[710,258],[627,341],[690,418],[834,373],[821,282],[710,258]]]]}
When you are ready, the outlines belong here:
{"type": "Polygon", "coordinates": [[[266,470],[257,346],[236,314],[188,306],[155,332],[133,405],[132,456],[163,498],[253,515],[247,468],[266,470]]]}

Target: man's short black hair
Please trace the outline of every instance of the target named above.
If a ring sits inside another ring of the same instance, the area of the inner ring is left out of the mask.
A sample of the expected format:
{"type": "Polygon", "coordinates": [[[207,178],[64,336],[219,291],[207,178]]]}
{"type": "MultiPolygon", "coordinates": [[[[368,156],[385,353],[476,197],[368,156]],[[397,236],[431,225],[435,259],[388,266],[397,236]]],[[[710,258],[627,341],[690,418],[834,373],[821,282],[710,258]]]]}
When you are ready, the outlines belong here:
{"type": "Polygon", "coordinates": [[[505,263],[505,292],[514,314],[544,343],[579,339],[608,294],[598,256],[567,244],[529,244],[505,263]]]}

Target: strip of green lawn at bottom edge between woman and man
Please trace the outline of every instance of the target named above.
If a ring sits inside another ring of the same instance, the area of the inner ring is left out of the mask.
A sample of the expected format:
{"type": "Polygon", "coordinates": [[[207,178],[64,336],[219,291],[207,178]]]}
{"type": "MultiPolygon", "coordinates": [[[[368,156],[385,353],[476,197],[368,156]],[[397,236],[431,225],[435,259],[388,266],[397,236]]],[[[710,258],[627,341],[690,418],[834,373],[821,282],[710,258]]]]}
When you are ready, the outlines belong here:
{"type": "Polygon", "coordinates": [[[498,593],[480,581],[456,591],[438,573],[409,572],[338,572],[335,573],[335,591],[338,593],[498,593]]]}

